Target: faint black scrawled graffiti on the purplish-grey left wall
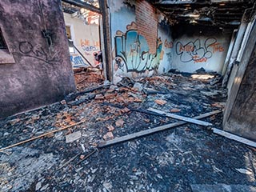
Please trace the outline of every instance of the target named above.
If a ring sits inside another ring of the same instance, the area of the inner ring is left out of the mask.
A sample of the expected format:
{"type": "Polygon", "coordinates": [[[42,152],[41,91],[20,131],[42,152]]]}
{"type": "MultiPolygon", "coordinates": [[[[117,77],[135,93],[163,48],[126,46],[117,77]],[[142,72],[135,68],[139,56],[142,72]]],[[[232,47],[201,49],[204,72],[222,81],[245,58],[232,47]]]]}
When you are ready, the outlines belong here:
{"type": "Polygon", "coordinates": [[[61,60],[58,58],[58,53],[51,55],[50,53],[47,53],[42,46],[33,46],[30,42],[18,42],[18,50],[19,52],[14,54],[36,58],[46,63],[61,62],[61,60]]]}

